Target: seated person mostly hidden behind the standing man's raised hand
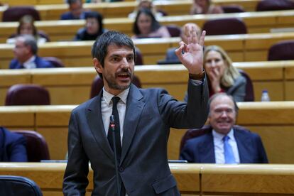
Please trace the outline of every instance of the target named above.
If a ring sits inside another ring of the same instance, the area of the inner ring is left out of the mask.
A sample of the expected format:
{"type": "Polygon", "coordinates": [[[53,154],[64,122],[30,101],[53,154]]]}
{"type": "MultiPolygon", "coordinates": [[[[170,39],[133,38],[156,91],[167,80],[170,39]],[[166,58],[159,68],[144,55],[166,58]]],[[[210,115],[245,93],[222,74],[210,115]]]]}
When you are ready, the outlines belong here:
{"type": "MultiPolygon", "coordinates": [[[[187,43],[187,37],[185,36],[185,27],[186,26],[191,26],[194,27],[196,29],[196,33],[197,33],[197,38],[198,40],[200,39],[201,36],[201,28],[199,26],[197,26],[197,24],[195,23],[185,23],[185,25],[182,27],[182,32],[180,34],[180,38],[183,40],[184,43],[187,43]]],[[[175,55],[175,49],[177,48],[169,48],[168,51],[166,52],[166,56],[165,56],[165,62],[172,62],[173,64],[178,63],[180,64],[180,60],[178,59],[178,56],[175,55]]]]}

